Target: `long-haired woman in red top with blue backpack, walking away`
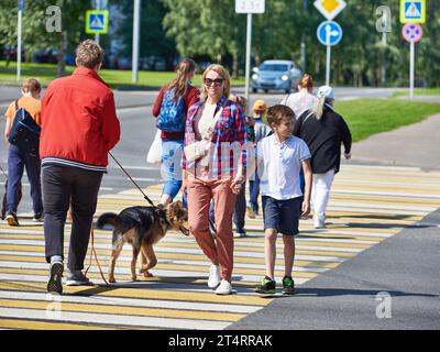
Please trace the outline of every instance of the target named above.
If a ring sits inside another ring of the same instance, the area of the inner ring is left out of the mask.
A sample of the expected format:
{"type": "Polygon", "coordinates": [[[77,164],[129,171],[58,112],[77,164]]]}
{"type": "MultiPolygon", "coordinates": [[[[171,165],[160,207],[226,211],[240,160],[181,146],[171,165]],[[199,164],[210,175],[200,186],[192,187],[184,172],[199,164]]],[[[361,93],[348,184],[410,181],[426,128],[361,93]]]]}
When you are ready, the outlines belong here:
{"type": "Polygon", "coordinates": [[[165,207],[182,188],[180,164],[185,121],[189,108],[198,101],[200,94],[191,85],[195,74],[196,63],[190,58],[184,58],[177,66],[176,77],[161,89],[153,107],[153,116],[157,118],[158,129],[162,130],[162,163],[166,180],[161,204],[165,207]]]}

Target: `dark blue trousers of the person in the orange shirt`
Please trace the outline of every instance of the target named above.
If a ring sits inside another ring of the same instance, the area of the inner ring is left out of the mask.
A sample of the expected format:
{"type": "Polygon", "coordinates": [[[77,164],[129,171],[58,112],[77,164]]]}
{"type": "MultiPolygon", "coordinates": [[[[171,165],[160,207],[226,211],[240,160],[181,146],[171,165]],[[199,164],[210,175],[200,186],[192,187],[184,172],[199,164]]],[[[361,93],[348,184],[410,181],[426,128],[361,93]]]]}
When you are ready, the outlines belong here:
{"type": "Polygon", "coordinates": [[[41,189],[41,161],[38,155],[31,155],[22,152],[16,145],[9,146],[8,155],[8,204],[7,212],[16,213],[18,198],[16,190],[24,167],[26,168],[28,179],[31,185],[31,197],[35,215],[43,213],[43,200],[41,189]]]}

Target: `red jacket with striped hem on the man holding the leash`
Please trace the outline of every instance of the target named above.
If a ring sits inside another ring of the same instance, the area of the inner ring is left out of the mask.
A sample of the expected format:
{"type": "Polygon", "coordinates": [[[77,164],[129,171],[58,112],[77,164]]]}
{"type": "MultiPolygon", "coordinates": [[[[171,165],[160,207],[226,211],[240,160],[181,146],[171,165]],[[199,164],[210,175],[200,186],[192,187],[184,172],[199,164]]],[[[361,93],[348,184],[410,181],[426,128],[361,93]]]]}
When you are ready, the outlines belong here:
{"type": "Polygon", "coordinates": [[[113,94],[96,72],[78,67],[48,86],[42,101],[42,166],[106,172],[120,134],[113,94]]]}

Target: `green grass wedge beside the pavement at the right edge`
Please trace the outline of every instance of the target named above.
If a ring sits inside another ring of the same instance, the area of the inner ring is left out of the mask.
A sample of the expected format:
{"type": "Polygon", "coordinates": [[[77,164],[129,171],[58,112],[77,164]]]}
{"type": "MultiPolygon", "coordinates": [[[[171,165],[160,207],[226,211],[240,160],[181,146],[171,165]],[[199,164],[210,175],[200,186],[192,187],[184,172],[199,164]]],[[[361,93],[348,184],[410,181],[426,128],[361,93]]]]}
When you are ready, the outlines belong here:
{"type": "Polygon", "coordinates": [[[334,109],[349,124],[353,142],[440,113],[439,103],[381,99],[337,101],[334,109]]]}

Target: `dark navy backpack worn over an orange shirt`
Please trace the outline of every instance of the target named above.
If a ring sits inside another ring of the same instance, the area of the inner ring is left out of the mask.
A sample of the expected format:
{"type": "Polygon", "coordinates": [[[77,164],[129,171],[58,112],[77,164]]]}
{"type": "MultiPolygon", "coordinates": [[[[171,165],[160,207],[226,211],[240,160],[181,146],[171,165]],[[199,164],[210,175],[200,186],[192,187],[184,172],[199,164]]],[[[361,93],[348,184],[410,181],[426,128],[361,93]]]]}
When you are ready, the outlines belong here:
{"type": "Polygon", "coordinates": [[[9,143],[16,145],[26,154],[38,155],[40,133],[40,125],[25,109],[19,108],[16,100],[15,117],[8,139],[9,143]]]}

